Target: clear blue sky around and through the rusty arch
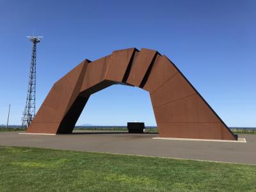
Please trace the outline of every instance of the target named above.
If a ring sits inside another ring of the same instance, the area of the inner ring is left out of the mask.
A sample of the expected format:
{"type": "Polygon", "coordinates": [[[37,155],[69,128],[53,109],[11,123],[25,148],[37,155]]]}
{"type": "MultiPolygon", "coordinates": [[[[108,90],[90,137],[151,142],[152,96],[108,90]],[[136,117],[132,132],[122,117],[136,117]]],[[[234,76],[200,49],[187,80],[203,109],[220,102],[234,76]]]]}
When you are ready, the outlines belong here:
{"type": "MultiPolygon", "coordinates": [[[[36,110],[88,58],[146,47],[165,54],[228,126],[256,126],[256,1],[0,1],[0,124],[21,124],[33,33],[36,110]]],[[[156,125],[148,93],[115,85],[90,97],[77,125],[156,125]]]]}

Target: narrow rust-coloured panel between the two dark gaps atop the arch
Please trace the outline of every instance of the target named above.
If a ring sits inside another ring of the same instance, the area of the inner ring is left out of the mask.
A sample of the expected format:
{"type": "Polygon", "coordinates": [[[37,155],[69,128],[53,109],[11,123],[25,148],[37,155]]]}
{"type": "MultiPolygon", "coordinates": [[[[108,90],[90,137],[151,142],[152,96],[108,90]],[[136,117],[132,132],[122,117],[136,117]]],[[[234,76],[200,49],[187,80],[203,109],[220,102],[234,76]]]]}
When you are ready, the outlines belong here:
{"type": "Polygon", "coordinates": [[[150,64],[154,64],[152,62],[154,62],[153,59],[156,58],[156,54],[157,51],[141,49],[132,63],[131,72],[126,82],[139,87],[148,67],[150,64]]]}

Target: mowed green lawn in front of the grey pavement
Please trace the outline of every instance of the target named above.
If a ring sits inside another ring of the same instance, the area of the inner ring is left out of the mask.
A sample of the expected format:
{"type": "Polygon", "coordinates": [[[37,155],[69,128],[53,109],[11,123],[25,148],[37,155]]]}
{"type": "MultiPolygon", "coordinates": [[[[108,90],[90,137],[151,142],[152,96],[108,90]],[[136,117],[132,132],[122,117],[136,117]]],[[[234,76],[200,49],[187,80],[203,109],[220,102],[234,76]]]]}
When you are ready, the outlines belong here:
{"type": "Polygon", "coordinates": [[[0,191],[256,191],[256,166],[0,147],[0,191]]]}

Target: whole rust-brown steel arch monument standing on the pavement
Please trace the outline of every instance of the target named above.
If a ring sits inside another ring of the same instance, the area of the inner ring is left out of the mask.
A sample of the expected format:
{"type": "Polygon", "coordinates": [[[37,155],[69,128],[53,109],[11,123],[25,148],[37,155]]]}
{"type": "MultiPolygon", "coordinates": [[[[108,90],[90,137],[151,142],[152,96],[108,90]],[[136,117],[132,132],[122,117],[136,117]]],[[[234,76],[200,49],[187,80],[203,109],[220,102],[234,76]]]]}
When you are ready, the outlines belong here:
{"type": "Polygon", "coordinates": [[[90,95],[112,84],[150,93],[161,137],[237,140],[172,61],[157,51],[135,48],[77,65],[54,83],[26,132],[72,132],[90,95]]]}

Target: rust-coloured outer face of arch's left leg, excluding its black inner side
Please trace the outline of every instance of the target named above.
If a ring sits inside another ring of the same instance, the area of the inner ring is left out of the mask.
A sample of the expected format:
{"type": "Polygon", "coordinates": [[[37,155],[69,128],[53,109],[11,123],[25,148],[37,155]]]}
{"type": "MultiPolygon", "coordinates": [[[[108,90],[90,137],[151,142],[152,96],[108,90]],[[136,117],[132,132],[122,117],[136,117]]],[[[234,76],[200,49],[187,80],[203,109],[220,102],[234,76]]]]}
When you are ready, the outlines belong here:
{"type": "Polygon", "coordinates": [[[63,116],[70,108],[70,103],[73,103],[80,93],[83,82],[81,79],[84,78],[88,62],[90,61],[84,60],[54,83],[26,132],[35,132],[35,130],[40,132],[39,130],[41,130],[43,133],[56,133],[58,131],[63,116]],[[38,127],[45,127],[45,129],[38,127]]]}

